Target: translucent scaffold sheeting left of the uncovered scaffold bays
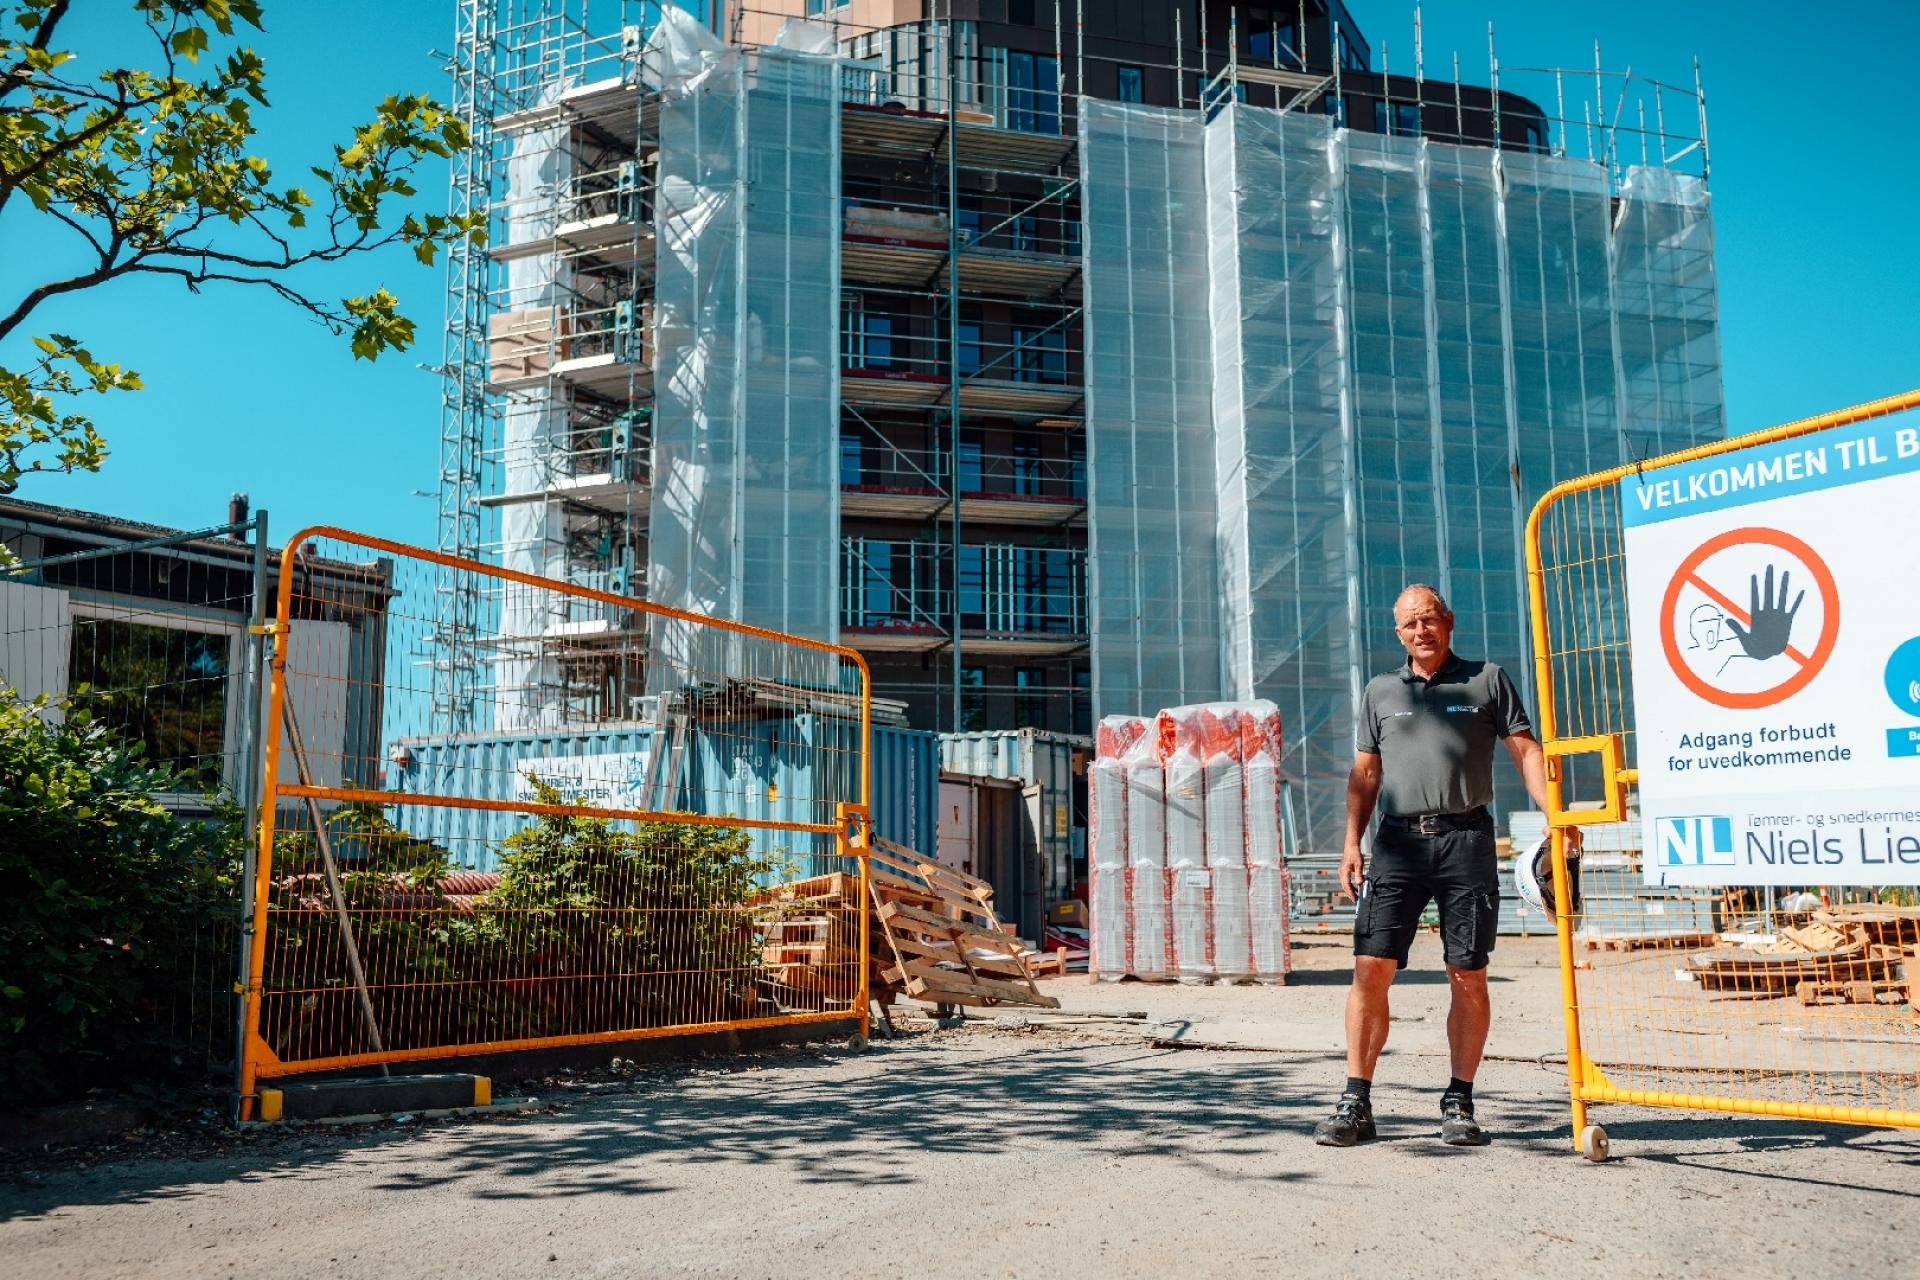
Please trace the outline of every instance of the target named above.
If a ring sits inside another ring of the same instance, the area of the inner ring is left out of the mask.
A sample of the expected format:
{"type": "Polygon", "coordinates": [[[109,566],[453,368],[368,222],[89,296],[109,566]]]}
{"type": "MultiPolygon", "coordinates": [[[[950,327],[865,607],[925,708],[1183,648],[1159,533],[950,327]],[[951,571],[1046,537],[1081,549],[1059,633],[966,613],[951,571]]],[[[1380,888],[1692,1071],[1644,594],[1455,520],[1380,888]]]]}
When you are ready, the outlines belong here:
{"type": "Polygon", "coordinates": [[[835,67],[712,54],[660,104],[649,597],[812,639],[839,599],[835,67]]]}

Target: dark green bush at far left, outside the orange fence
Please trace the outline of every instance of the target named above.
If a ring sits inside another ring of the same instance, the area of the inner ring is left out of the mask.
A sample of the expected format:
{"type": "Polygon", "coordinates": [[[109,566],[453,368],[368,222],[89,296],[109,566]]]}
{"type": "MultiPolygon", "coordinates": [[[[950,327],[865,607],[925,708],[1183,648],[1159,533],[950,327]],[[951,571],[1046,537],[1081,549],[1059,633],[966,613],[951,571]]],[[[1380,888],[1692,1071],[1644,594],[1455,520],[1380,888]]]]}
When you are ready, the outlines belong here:
{"type": "Polygon", "coordinates": [[[204,1067],[173,1061],[179,958],[236,910],[242,823],[230,806],[198,821],[156,800],[180,791],[194,787],[83,700],[0,689],[0,1096],[204,1067]]]}

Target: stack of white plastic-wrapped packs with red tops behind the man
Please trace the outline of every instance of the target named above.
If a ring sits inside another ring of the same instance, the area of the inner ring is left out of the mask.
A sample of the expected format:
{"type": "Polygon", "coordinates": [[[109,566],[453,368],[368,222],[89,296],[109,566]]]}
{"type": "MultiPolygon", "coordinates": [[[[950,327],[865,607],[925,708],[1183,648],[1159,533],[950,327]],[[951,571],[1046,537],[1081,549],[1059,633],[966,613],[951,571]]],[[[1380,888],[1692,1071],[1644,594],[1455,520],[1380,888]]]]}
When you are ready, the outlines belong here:
{"type": "Polygon", "coordinates": [[[1286,981],[1273,702],[1108,716],[1087,794],[1094,977],[1286,981]]]}

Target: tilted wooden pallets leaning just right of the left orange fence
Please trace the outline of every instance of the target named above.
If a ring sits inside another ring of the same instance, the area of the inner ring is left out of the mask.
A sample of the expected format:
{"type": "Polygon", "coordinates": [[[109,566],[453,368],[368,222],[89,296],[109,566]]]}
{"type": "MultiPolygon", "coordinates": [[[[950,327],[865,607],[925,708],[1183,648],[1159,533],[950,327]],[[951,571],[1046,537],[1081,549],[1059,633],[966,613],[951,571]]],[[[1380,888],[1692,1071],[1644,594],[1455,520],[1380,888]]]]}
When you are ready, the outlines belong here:
{"type": "Polygon", "coordinates": [[[868,856],[874,919],[893,963],[887,988],[927,1004],[1058,1009],[1033,984],[1023,948],[993,913],[993,887],[893,841],[868,856]]]}

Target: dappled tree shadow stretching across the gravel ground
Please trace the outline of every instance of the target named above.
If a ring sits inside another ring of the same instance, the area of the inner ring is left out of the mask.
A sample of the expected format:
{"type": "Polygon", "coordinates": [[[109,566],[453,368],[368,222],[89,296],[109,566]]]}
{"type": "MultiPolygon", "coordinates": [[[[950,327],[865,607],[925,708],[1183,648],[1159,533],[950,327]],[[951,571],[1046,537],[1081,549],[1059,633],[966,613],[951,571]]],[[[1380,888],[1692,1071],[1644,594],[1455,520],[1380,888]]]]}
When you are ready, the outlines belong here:
{"type": "MultiPolygon", "coordinates": [[[[881,1042],[858,1059],[847,1050],[814,1050],[758,1063],[687,1063],[607,1092],[563,1096],[559,1115],[501,1117],[453,1130],[301,1130],[198,1159],[121,1157],[84,1173],[0,1184],[0,1221],[61,1205],[217,1196],[223,1182],[313,1176],[409,1146],[420,1148],[419,1159],[378,1159],[382,1180],[374,1186],[405,1192],[465,1184],[478,1199],[645,1197],[674,1190],[676,1169],[735,1165],[778,1169],[812,1186],[922,1182],[937,1192],[943,1163],[929,1157],[998,1155],[1016,1148],[1165,1157],[1204,1169],[1210,1178],[1300,1182],[1319,1176],[1311,1169],[1319,1161],[1283,1161],[1284,1171],[1256,1174],[1231,1173],[1223,1159],[1309,1142],[1329,1084],[1321,1055],[1206,1054],[1004,1034],[908,1036],[881,1042]]],[[[1569,1150],[1565,1109],[1549,1092],[1507,1096],[1482,1088],[1482,1098],[1498,1111],[1500,1144],[1569,1150]]],[[[1461,1155],[1432,1142],[1427,1105],[1425,1096],[1413,1103],[1404,1090],[1386,1102],[1382,1144],[1434,1159],[1461,1155]]],[[[1905,1173],[1920,1165],[1920,1138],[1910,1134],[1797,1121],[1624,1115],[1609,1121],[1609,1134],[1617,1148],[1628,1150],[1628,1159],[1788,1182],[1818,1180],[1795,1178],[1791,1161],[1743,1167],[1740,1155],[1872,1144],[1876,1153],[1891,1157],[1889,1173],[1897,1176],[1889,1178],[1893,1186],[1859,1190],[1920,1196],[1905,1173]]]]}

